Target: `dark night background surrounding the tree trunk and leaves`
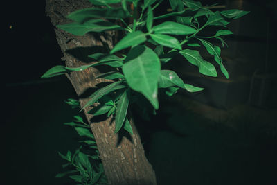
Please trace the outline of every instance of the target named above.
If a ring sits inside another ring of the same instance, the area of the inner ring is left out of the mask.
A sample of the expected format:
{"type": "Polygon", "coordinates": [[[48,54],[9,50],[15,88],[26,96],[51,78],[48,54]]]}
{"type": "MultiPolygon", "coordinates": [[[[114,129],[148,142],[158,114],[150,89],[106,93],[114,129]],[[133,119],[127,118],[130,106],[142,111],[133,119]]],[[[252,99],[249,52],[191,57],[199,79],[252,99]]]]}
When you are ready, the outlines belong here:
{"type": "MultiPolygon", "coordinates": [[[[162,100],[157,116],[138,125],[146,155],[158,184],[277,184],[276,1],[206,3],[251,11],[229,26],[235,35],[222,58],[230,80],[173,62],[206,90],[162,100]]],[[[76,98],[65,76],[40,78],[63,64],[45,2],[5,1],[2,9],[0,184],[64,184],[55,178],[64,164],[57,151],[75,150],[78,136],[62,123],[78,111],[64,103],[76,98]]]]}

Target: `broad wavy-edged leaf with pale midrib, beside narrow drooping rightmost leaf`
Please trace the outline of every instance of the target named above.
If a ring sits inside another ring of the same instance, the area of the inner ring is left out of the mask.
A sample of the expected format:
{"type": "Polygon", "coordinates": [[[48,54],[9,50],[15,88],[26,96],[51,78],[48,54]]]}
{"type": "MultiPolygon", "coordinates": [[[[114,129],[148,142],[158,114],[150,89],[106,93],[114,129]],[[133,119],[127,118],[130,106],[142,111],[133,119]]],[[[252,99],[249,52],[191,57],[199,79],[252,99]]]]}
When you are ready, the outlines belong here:
{"type": "Polygon", "coordinates": [[[190,49],[184,49],[182,51],[179,51],[181,55],[190,62],[190,64],[193,64],[199,68],[199,73],[202,73],[206,76],[217,76],[217,71],[215,70],[215,67],[213,64],[207,62],[202,58],[199,51],[197,50],[190,50],[190,49]]]}

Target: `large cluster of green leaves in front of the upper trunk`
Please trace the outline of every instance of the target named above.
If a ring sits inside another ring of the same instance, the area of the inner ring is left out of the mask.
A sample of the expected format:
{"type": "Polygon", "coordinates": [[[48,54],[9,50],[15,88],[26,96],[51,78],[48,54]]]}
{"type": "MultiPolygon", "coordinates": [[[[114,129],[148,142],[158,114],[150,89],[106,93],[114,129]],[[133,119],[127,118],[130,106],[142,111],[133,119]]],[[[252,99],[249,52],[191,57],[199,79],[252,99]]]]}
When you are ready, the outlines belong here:
{"type": "Polygon", "coordinates": [[[93,8],[72,12],[68,18],[73,22],[57,27],[78,36],[114,30],[124,33],[123,37],[110,51],[91,53],[88,57],[96,62],[75,68],[56,66],[46,71],[42,77],[83,71],[100,65],[113,67],[113,71],[96,77],[113,82],[91,94],[91,99],[84,107],[98,103],[90,112],[94,116],[115,114],[115,132],[124,127],[132,134],[127,110],[133,103],[141,105],[144,102],[141,98],[152,105],[150,112],[159,109],[158,89],[168,96],[179,89],[189,92],[204,89],[187,84],[175,71],[163,69],[163,64],[170,62],[175,55],[180,55],[184,62],[195,65],[199,73],[217,77],[218,71],[214,64],[206,61],[200,53],[199,48],[204,48],[214,58],[224,76],[229,78],[221,58],[220,46],[212,44],[212,39],[220,40],[224,47],[226,43],[222,36],[232,34],[226,26],[231,20],[248,12],[235,9],[212,11],[211,6],[203,6],[198,1],[169,0],[172,12],[154,16],[155,8],[163,0],[89,1],[93,8]],[[128,22],[130,18],[132,21],[128,22]],[[208,27],[214,28],[212,35],[204,34],[208,27]]]}

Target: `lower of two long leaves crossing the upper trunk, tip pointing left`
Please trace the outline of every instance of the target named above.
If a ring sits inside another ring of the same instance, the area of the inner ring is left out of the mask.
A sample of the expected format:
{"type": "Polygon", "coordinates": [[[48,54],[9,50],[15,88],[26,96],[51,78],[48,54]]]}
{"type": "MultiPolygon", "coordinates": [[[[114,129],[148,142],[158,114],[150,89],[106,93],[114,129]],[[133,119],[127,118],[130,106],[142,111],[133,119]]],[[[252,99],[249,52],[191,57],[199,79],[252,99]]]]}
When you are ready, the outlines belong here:
{"type": "Polygon", "coordinates": [[[121,26],[113,24],[109,21],[104,21],[102,19],[93,19],[82,23],[73,22],[69,24],[57,25],[57,28],[61,28],[68,33],[77,36],[83,36],[88,32],[103,32],[107,30],[123,30],[121,26]]]}

